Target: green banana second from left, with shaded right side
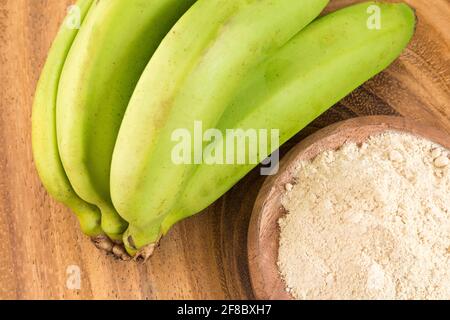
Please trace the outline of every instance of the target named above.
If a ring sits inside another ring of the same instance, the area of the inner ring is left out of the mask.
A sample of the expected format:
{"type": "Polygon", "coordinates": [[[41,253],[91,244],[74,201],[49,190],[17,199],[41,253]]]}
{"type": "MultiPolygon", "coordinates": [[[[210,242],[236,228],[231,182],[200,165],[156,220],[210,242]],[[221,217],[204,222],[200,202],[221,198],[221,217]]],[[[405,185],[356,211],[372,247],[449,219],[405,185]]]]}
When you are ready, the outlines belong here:
{"type": "Polygon", "coordinates": [[[77,194],[100,208],[102,229],[113,240],[127,227],[109,188],[117,132],[150,57],[192,3],[95,1],[64,65],[56,112],[62,163],[77,194]]]}

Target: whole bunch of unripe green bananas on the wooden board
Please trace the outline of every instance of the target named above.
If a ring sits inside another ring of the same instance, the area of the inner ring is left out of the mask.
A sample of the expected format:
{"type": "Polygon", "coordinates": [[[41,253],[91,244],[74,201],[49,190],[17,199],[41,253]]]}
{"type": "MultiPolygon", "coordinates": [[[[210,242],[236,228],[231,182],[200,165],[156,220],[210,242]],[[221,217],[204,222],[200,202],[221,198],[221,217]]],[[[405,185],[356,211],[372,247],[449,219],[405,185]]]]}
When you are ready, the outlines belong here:
{"type": "Polygon", "coordinates": [[[177,129],[215,128],[212,149],[233,145],[228,129],[276,129],[284,143],[385,69],[414,33],[404,4],[372,1],[312,22],[327,3],[79,0],[81,29],[61,27],[35,95],[44,186],[99,247],[125,259],[113,243],[123,241],[148,258],[175,223],[256,166],[204,163],[195,148],[193,164],[178,164],[177,129]]]}

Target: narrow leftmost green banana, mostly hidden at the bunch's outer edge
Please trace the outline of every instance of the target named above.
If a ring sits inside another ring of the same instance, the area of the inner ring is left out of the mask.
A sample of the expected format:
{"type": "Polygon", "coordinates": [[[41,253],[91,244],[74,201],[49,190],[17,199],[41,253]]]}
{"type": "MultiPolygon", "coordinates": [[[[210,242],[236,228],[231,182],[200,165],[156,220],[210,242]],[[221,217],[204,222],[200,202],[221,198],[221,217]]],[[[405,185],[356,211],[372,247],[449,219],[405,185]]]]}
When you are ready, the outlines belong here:
{"type": "MultiPolygon", "coordinates": [[[[83,22],[93,0],[79,0],[80,22],[83,22]]],[[[33,158],[42,184],[57,201],[76,214],[81,230],[88,236],[102,234],[100,212],[82,200],[73,190],[61,163],[56,138],[56,95],[66,56],[78,29],[70,28],[67,19],[61,26],[42,70],[33,103],[33,158]]]]}

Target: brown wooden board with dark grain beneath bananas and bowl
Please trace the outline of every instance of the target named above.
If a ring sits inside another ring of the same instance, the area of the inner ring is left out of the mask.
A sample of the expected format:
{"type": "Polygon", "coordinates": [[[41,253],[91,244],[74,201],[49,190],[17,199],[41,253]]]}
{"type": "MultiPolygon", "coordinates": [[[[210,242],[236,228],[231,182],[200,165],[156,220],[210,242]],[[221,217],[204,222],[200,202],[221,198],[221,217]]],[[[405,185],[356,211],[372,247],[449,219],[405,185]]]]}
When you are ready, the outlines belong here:
{"type": "MultiPolygon", "coordinates": [[[[257,170],[204,213],[171,230],[145,265],[100,253],[41,186],[31,154],[31,104],[71,2],[0,2],[0,298],[253,298],[246,241],[263,182],[257,170]],[[78,271],[79,290],[71,282],[78,271]]],[[[355,2],[361,1],[332,0],[327,11],[355,2]]],[[[417,9],[419,24],[401,58],[303,130],[282,153],[319,128],[361,115],[398,114],[450,133],[450,1],[406,2],[417,9]]]]}

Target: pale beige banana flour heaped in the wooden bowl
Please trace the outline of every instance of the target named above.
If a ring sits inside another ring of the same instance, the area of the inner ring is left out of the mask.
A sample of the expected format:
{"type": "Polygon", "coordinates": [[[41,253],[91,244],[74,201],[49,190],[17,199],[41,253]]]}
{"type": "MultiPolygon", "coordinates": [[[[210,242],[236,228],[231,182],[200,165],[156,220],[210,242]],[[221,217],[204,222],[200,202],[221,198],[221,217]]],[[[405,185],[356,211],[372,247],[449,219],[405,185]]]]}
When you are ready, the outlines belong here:
{"type": "Polygon", "coordinates": [[[286,290],[296,299],[450,299],[448,158],[391,131],[298,163],[279,221],[286,290]]]}

